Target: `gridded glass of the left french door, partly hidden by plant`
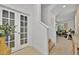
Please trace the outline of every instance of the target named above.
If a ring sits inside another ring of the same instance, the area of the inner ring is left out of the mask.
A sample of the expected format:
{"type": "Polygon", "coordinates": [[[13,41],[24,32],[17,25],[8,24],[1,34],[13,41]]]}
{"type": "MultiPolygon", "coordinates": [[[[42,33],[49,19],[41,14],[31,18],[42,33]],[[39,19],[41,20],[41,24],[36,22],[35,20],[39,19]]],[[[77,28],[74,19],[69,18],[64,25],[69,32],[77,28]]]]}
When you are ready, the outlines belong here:
{"type": "MultiPolygon", "coordinates": [[[[2,10],[2,24],[15,26],[15,13],[8,10],[2,10]]],[[[10,35],[10,39],[6,38],[6,44],[10,48],[15,47],[15,33],[10,35]]]]}

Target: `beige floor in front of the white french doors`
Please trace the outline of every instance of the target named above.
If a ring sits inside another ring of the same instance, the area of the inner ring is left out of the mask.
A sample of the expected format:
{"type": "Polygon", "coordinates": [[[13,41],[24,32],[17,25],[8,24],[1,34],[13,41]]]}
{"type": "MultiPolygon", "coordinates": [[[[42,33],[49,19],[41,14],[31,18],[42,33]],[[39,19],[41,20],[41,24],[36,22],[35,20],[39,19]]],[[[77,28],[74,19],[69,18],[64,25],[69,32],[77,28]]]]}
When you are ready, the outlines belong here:
{"type": "Polygon", "coordinates": [[[41,55],[41,53],[35,48],[28,46],[20,51],[12,53],[12,55],[41,55]]]}

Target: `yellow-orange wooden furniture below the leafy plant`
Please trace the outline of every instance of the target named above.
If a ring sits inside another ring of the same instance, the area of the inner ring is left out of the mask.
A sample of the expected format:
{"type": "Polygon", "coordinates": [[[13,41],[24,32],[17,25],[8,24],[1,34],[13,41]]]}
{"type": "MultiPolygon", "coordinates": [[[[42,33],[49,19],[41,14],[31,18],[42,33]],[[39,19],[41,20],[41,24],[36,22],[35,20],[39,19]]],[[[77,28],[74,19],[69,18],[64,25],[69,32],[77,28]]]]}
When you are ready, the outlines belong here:
{"type": "Polygon", "coordinates": [[[11,49],[7,47],[5,37],[0,37],[0,55],[11,54],[11,49]]]}

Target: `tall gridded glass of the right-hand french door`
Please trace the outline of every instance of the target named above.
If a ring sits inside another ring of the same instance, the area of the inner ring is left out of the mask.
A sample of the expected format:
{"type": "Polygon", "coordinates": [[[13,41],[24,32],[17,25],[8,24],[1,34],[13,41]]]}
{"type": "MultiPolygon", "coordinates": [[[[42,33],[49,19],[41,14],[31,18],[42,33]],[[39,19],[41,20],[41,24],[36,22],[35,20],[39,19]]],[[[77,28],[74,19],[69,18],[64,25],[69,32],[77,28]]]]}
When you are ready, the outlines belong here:
{"type": "Polygon", "coordinates": [[[27,16],[20,15],[20,44],[27,43],[27,16]]]}

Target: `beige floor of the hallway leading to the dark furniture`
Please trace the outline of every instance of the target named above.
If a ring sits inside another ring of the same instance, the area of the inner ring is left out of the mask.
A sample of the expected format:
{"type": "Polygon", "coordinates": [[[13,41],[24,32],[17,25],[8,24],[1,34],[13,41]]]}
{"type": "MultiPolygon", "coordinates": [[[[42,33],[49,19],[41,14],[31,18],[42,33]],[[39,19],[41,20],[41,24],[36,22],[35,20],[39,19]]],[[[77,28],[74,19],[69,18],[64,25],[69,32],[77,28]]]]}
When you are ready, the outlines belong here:
{"type": "Polygon", "coordinates": [[[57,37],[57,44],[50,53],[51,55],[73,55],[72,40],[57,37]]]}

